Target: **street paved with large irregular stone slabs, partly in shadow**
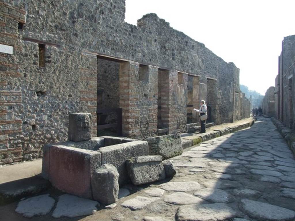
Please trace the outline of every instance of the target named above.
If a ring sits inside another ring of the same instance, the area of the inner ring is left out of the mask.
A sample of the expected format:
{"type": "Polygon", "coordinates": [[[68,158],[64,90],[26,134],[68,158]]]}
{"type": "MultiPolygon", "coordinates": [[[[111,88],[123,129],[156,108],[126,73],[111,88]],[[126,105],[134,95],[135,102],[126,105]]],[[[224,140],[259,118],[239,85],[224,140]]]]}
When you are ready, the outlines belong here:
{"type": "Polygon", "coordinates": [[[201,143],[177,174],[83,220],[294,220],[295,160],[273,123],[201,143]]]}

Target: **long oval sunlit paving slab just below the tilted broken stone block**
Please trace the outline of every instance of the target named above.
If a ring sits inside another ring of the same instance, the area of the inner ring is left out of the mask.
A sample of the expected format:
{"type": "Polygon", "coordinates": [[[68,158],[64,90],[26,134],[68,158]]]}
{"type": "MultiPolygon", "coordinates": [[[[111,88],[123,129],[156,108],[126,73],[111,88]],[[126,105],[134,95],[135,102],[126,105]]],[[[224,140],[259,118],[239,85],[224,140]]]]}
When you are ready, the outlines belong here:
{"type": "Polygon", "coordinates": [[[189,192],[200,189],[201,185],[195,181],[183,181],[163,183],[159,187],[167,191],[189,192]]]}

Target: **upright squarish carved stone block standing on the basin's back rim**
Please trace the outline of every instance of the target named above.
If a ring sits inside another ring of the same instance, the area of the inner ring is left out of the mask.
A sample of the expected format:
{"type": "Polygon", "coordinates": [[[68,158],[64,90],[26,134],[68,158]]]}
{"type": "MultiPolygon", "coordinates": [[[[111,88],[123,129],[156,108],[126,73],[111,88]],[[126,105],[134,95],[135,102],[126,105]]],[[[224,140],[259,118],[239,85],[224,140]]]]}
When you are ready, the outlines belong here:
{"type": "Polygon", "coordinates": [[[70,113],[68,137],[70,141],[87,141],[91,139],[91,113],[70,113]]]}

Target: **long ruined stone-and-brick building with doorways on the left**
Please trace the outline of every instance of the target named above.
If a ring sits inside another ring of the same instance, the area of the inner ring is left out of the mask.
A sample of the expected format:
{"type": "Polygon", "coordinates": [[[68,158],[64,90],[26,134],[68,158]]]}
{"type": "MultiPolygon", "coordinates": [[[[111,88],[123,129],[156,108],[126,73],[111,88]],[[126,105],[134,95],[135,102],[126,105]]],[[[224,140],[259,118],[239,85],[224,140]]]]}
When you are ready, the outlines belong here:
{"type": "Polygon", "coordinates": [[[156,14],[124,17],[124,0],[0,2],[0,164],[67,140],[71,112],[134,138],[186,132],[200,100],[216,124],[247,115],[233,63],[156,14]]]}

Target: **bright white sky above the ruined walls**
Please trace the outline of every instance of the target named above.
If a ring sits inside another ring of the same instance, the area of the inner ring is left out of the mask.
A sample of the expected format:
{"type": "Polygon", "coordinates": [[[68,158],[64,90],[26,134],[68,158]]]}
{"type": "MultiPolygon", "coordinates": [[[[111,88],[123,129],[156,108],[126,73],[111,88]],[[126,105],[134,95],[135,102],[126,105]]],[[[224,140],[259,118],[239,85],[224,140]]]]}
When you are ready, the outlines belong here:
{"type": "Polygon", "coordinates": [[[294,0],[126,0],[125,22],[160,18],[240,68],[240,84],[274,86],[283,37],[295,34],[294,0]]]}

